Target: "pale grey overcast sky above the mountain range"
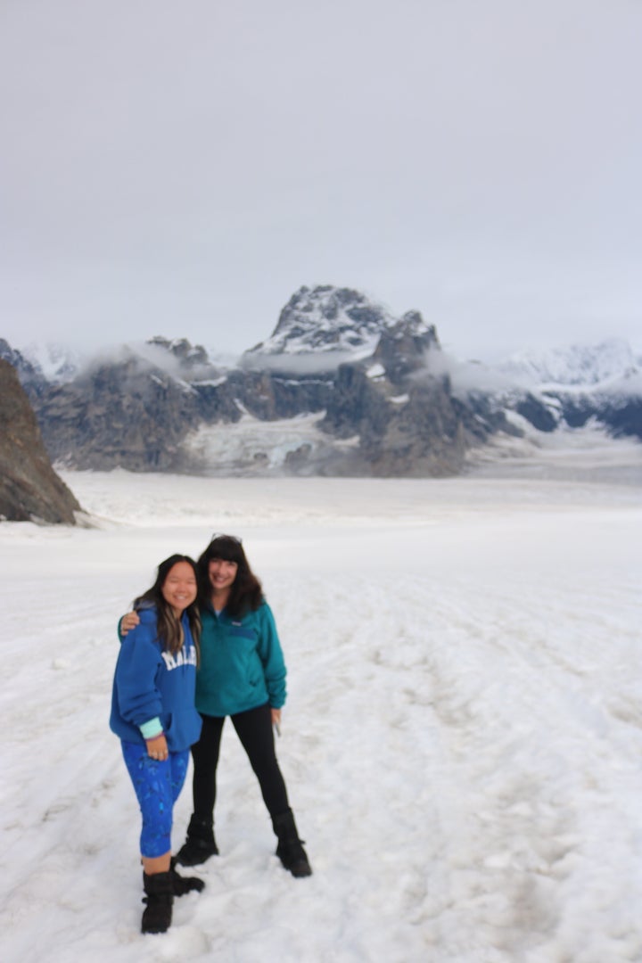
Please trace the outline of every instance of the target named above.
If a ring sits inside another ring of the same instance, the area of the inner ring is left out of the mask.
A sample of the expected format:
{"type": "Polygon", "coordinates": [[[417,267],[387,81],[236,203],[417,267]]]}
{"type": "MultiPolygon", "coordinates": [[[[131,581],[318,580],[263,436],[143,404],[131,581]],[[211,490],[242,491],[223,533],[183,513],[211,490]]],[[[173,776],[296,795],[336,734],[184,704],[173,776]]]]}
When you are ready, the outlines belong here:
{"type": "Polygon", "coordinates": [[[0,0],[0,337],[642,350],[642,0],[0,0]]]}

